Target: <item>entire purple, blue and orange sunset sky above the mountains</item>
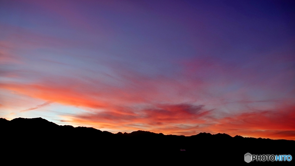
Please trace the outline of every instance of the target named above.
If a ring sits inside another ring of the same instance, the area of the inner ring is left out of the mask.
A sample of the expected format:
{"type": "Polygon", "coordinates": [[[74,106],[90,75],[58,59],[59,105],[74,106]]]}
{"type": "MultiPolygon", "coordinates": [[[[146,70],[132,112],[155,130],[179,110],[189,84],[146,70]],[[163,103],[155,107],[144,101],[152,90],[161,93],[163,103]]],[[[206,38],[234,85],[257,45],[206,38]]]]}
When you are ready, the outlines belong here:
{"type": "Polygon", "coordinates": [[[295,2],[0,0],[0,117],[295,140],[295,2]]]}

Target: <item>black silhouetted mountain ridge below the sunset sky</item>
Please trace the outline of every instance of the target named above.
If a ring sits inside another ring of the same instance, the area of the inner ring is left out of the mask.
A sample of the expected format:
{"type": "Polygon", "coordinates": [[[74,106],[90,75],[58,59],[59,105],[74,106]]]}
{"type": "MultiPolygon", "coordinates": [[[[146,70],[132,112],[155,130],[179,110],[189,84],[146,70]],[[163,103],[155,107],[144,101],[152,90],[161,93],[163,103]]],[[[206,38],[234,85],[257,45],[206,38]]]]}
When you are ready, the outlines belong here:
{"type": "Polygon", "coordinates": [[[189,137],[146,131],[113,134],[94,128],[59,126],[42,118],[17,118],[11,121],[0,118],[0,135],[1,158],[12,162],[94,162],[122,165],[295,163],[295,159],[290,162],[244,161],[246,153],[295,157],[293,140],[231,137],[220,133],[200,133],[189,137]]]}

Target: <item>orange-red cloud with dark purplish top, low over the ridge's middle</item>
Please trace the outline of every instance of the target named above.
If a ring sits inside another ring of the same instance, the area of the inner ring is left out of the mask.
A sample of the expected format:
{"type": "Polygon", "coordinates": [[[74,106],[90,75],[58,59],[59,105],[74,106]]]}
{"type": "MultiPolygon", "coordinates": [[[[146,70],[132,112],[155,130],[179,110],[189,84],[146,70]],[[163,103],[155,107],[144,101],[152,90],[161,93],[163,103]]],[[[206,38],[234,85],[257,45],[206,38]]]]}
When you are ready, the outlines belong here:
{"type": "Polygon", "coordinates": [[[132,132],[135,130],[149,130],[164,134],[181,133],[191,130],[191,126],[203,124],[204,118],[212,110],[203,106],[191,104],[154,105],[143,108],[113,107],[96,113],[68,116],[73,124],[87,124],[98,129],[108,129],[112,132],[132,132]]]}

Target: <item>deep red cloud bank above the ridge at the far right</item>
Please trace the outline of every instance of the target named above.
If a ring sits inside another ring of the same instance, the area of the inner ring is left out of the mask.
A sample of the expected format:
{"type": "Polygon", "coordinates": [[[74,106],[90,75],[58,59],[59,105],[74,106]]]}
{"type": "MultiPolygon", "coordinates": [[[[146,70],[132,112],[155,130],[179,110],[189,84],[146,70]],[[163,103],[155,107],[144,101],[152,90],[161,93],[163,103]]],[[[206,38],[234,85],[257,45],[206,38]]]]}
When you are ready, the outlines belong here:
{"type": "Polygon", "coordinates": [[[219,119],[207,129],[232,136],[295,140],[295,106],[279,111],[251,111],[219,119]]]}

